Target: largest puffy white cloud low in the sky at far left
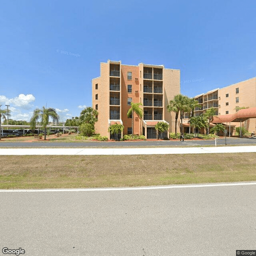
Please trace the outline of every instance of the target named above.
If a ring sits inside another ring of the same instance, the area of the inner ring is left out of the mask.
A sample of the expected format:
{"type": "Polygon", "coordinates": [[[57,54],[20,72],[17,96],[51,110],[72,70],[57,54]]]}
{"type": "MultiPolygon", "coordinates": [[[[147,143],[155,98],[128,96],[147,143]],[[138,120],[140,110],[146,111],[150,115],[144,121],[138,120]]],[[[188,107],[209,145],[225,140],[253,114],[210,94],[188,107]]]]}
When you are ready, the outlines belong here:
{"type": "Polygon", "coordinates": [[[34,102],[36,98],[32,94],[19,94],[18,97],[10,98],[8,99],[4,95],[0,95],[0,103],[8,104],[8,105],[14,105],[20,108],[29,109],[32,107],[30,104],[31,102],[34,102]]]}

